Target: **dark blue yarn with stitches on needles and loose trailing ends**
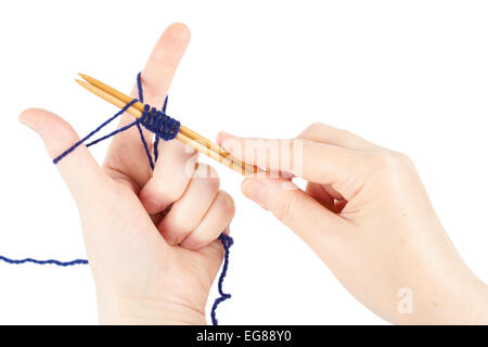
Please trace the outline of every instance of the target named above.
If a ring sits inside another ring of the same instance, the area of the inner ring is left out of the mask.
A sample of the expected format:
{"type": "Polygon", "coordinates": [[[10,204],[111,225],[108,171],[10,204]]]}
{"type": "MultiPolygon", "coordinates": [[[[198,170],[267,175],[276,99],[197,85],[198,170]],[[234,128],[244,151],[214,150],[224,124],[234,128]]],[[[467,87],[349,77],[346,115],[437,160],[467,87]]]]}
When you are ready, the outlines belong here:
{"type": "MultiPolygon", "coordinates": [[[[61,153],[57,157],[55,157],[52,162],[54,164],[57,164],[62,158],[64,158],[66,155],[68,155],[69,153],[72,153],[73,151],[75,151],[79,145],[81,145],[82,143],[85,143],[87,140],[89,140],[92,136],[94,136],[97,132],[99,132],[102,128],[104,128],[106,125],[108,125],[112,120],[114,120],[115,118],[119,117],[120,115],[123,115],[127,110],[130,108],[130,106],[132,106],[134,103],[137,103],[138,101],[140,102],[144,102],[144,95],[143,95],[143,90],[142,90],[142,79],[141,79],[141,73],[138,74],[138,92],[139,92],[139,100],[138,99],[133,99],[131,102],[129,102],[124,108],[121,108],[119,112],[117,112],[115,115],[113,115],[111,118],[108,118],[107,120],[105,120],[104,123],[102,123],[99,127],[97,127],[97,129],[94,129],[93,131],[91,131],[90,133],[88,133],[85,138],[82,138],[81,140],[79,140],[78,142],[76,142],[74,145],[72,145],[69,149],[67,149],[66,151],[64,151],[63,153],[61,153]]],[[[157,145],[159,143],[159,139],[163,139],[165,141],[169,141],[175,139],[175,137],[177,136],[179,129],[180,129],[180,123],[171,117],[169,117],[168,115],[166,115],[166,106],[168,103],[168,97],[166,97],[165,99],[165,103],[163,105],[162,111],[156,110],[155,107],[151,107],[150,105],[145,104],[144,105],[144,112],[142,113],[142,116],[138,119],[136,119],[134,121],[118,128],[97,140],[93,140],[89,143],[86,144],[87,147],[97,144],[103,140],[106,140],[119,132],[123,132],[133,126],[136,126],[139,130],[139,134],[141,137],[141,142],[144,146],[144,152],[145,155],[147,156],[147,160],[149,164],[151,166],[151,169],[154,170],[154,163],[157,160],[158,157],[158,153],[157,153],[157,145]],[[151,132],[154,133],[154,143],[153,143],[153,153],[154,153],[154,160],[153,157],[151,156],[151,152],[149,150],[149,145],[147,142],[145,141],[144,134],[142,132],[142,127],[144,127],[145,129],[150,130],[151,132]]],[[[221,233],[219,236],[220,242],[222,243],[223,246],[223,250],[224,250],[224,257],[223,257],[223,266],[222,266],[222,272],[220,273],[219,280],[218,280],[218,292],[220,294],[220,297],[216,298],[216,300],[214,301],[214,305],[211,306],[211,323],[214,325],[218,325],[218,321],[217,321],[217,316],[216,316],[216,310],[217,307],[219,306],[220,303],[229,299],[231,297],[230,294],[226,294],[223,293],[222,290],[222,285],[223,285],[223,279],[227,275],[227,270],[229,267],[229,248],[232,246],[233,244],[233,240],[231,236],[221,233]]],[[[37,265],[55,265],[59,267],[69,267],[69,266],[75,266],[75,265],[87,265],[88,260],[86,259],[75,259],[75,260],[70,260],[70,261],[60,261],[60,260],[55,260],[55,259],[48,259],[48,260],[36,260],[33,258],[25,258],[25,259],[10,259],[3,256],[0,256],[0,260],[5,261],[8,264],[15,264],[15,265],[20,265],[20,264],[26,264],[26,262],[33,262],[33,264],[37,264],[37,265]]]]}

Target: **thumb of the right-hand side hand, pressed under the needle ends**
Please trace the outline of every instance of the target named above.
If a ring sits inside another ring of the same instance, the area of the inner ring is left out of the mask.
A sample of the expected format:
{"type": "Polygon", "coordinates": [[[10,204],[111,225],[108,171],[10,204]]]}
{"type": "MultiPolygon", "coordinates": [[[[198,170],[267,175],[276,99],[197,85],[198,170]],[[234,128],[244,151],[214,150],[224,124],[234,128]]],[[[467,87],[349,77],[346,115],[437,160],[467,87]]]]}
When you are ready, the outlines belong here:
{"type": "Polygon", "coordinates": [[[347,228],[346,220],[323,207],[290,180],[249,176],[243,181],[242,191],[248,198],[270,210],[312,249],[323,244],[324,235],[338,235],[347,228]]]}

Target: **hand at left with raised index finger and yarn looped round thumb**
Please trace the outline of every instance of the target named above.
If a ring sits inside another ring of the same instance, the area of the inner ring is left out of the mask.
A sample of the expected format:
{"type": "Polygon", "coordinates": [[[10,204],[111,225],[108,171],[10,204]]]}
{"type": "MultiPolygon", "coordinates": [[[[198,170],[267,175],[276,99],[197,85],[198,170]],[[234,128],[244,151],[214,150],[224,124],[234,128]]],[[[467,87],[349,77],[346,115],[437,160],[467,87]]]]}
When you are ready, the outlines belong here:
{"type": "MultiPolygon", "coordinates": [[[[142,73],[146,103],[162,105],[189,40],[184,25],[166,29],[142,73]]],[[[78,140],[50,112],[27,110],[20,120],[39,133],[51,157],[78,140]]],[[[130,121],[124,115],[120,126],[130,121]]],[[[151,133],[144,136],[151,143],[151,133]]],[[[103,167],[85,145],[57,164],[79,209],[102,323],[205,323],[223,255],[217,239],[229,231],[233,201],[193,150],[177,141],[158,150],[151,172],[131,128],[113,139],[103,167]]]]}

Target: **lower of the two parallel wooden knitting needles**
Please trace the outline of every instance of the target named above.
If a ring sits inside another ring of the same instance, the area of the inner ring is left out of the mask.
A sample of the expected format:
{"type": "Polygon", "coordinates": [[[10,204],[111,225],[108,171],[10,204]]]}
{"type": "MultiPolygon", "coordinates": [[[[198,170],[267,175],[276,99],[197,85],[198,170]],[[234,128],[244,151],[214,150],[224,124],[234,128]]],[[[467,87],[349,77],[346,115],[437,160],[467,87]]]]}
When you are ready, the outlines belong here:
{"type": "MultiPolygon", "coordinates": [[[[87,89],[88,91],[90,91],[91,93],[102,98],[103,100],[110,102],[111,104],[123,108],[127,105],[126,102],[117,99],[116,97],[105,92],[104,90],[98,88],[97,86],[90,85],[86,81],[76,79],[76,82],[78,85],[80,85],[81,87],[84,87],[85,89],[87,89]]],[[[130,102],[130,101],[129,101],[130,102]]],[[[127,110],[127,113],[129,113],[130,115],[139,118],[142,116],[142,112],[140,110],[138,110],[137,107],[134,107],[136,104],[133,104],[131,107],[129,107],[127,110]]],[[[181,128],[181,126],[180,126],[181,128]]],[[[222,156],[219,154],[219,152],[215,152],[211,149],[207,147],[205,145],[205,143],[200,142],[196,139],[192,139],[190,137],[188,137],[187,134],[182,133],[181,131],[179,131],[176,136],[176,139],[178,139],[179,141],[183,142],[184,144],[188,144],[190,146],[192,146],[193,149],[195,149],[196,151],[209,156],[210,158],[228,166],[229,168],[233,169],[234,171],[242,174],[242,175],[249,175],[249,174],[254,174],[257,171],[261,171],[260,168],[256,167],[256,166],[252,166],[252,165],[247,165],[244,164],[240,160],[237,160],[236,158],[232,157],[230,154],[228,154],[227,156],[222,156]]],[[[207,140],[208,141],[208,140],[207,140]]],[[[217,145],[217,144],[216,144],[217,145]]],[[[222,150],[223,151],[223,150],[222,150]]]]}

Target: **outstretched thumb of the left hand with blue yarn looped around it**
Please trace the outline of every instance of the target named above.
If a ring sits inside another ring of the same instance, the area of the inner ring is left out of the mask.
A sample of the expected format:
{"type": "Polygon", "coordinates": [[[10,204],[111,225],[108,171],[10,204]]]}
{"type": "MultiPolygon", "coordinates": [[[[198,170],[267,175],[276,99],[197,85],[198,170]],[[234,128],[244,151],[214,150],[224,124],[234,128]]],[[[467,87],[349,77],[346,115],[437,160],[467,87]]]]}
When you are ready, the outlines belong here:
{"type": "MultiPolygon", "coordinates": [[[[18,120],[39,134],[51,158],[79,141],[73,127],[49,111],[29,108],[21,114],[18,120]]],[[[93,197],[107,190],[107,177],[84,144],[60,160],[56,167],[80,209],[93,207],[93,197]]]]}

